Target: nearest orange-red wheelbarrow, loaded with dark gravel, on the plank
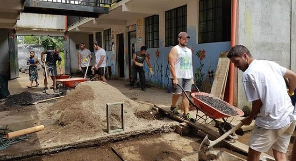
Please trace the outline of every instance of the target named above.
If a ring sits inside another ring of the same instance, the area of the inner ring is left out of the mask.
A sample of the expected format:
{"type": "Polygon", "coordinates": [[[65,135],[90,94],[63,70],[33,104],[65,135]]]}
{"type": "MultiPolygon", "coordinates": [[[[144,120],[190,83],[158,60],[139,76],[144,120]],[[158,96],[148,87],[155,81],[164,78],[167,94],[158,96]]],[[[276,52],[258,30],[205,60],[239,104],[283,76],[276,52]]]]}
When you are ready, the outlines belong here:
{"type": "MultiPolygon", "coordinates": [[[[228,130],[233,128],[233,125],[231,124],[231,122],[233,121],[234,117],[239,117],[239,116],[244,115],[244,112],[241,109],[239,109],[239,108],[237,108],[237,107],[235,107],[223,100],[220,100],[219,98],[214,97],[213,95],[210,95],[208,93],[199,92],[199,89],[195,85],[193,85],[193,86],[197,89],[198,92],[191,94],[191,97],[193,98],[193,101],[194,101],[194,102],[192,102],[189,99],[188,95],[186,94],[185,90],[180,85],[178,85],[178,86],[182,89],[182,91],[185,94],[186,98],[188,99],[189,103],[192,104],[197,110],[195,121],[202,119],[205,124],[209,124],[212,121],[215,121],[216,125],[218,125],[218,131],[219,131],[220,135],[223,135],[228,130]],[[213,107],[212,105],[209,105],[210,102],[206,103],[203,100],[201,100],[200,97],[208,97],[209,99],[219,100],[219,102],[225,104],[226,107],[229,108],[229,110],[231,110],[233,112],[233,114],[227,114],[227,113],[219,110],[218,107],[213,107]],[[202,115],[202,116],[198,115],[198,110],[203,112],[204,115],[202,115]],[[229,117],[233,117],[233,119],[230,122],[227,122],[227,119],[229,117]],[[210,120],[209,122],[207,122],[208,119],[210,120]],[[222,119],[223,122],[219,123],[216,119],[222,119]]],[[[203,122],[201,122],[201,123],[203,123],[203,122]]],[[[238,136],[235,133],[233,135],[230,135],[229,137],[231,137],[233,139],[238,138],[238,136]]]]}

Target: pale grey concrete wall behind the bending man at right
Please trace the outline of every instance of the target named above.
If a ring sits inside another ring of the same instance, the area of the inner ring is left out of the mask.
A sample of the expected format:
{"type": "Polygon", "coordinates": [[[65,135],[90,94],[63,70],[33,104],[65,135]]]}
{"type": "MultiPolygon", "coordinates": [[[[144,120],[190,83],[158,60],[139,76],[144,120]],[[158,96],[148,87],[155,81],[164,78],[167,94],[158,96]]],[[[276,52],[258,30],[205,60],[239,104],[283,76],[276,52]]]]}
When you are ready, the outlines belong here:
{"type": "MultiPolygon", "coordinates": [[[[294,4],[295,1],[292,1],[294,4]]],[[[293,5],[293,10],[295,5],[293,5]]],[[[291,1],[239,1],[238,44],[246,46],[254,58],[272,60],[289,68],[291,38],[291,1]]],[[[294,11],[293,11],[294,13],[294,11]]],[[[295,18],[292,19],[294,23],[295,18]]],[[[295,29],[292,28],[295,33],[295,29]]],[[[294,51],[293,51],[294,53],[294,51]]],[[[295,58],[294,58],[295,60],[295,58]]],[[[293,61],[294,62],[294,61],[293,61]]],[[[293,69],[295,69],[295,64],[293,69]]],[[[238,77],[238,106],[251,107],[246,102],[242,72],[238,77]]]]}

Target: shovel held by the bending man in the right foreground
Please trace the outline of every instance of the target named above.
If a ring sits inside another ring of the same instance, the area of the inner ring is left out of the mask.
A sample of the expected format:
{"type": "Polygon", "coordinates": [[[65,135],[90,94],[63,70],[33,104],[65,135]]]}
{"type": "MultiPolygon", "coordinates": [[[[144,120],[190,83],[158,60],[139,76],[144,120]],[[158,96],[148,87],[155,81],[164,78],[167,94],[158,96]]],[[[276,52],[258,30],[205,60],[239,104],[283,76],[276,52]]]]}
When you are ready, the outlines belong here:
{"type": "Polygon", "coordinates": [[[235,127],[233,127],[232,129],[230,129],[229,131],[227,131],[225,134],[223,134],[222,136],[220,136],[219,138],[217,138],[216,140],[214,141],[211,141],[207,138],[207,135],[204,137],[204,139],[202,140],[200,146],[199,146],[199,149],[198,151],[200,151],[201,148],[204,148],[204,147],[207,147],[207,149],[211,149],[212,150],[212,147],[217,144],[218,142],[224,140],[225,138],[227,138],[227,136],[229,136],[230,134],[234,133],[236,130],[238,130],[240,127],[243,126],[243,122],[240,122],[238,125],[236,125],[235,127]]]}

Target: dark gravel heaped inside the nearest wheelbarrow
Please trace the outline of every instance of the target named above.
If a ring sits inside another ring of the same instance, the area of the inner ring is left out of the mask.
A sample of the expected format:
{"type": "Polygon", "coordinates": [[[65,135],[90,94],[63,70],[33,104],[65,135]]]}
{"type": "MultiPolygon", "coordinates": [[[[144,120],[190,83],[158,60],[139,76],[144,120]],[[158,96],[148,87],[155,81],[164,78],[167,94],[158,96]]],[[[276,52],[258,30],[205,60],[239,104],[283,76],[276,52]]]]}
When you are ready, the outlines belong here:
{"type": "Polygon", "coordinates": [[[227,105],[222,100],[218,100],[208,96],[201,96],[201,95],[195,95],[195,97],[225,114],[228,114],[231,116],[238,115],[238,113],[232,107],[227,105]]]}

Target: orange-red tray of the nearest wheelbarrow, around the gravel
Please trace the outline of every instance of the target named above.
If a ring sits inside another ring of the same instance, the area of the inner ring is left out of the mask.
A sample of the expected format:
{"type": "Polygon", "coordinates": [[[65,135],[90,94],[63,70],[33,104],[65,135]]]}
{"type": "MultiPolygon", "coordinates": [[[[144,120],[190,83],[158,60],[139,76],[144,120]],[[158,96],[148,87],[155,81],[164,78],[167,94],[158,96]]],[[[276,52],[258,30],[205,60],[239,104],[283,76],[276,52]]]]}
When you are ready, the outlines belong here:
{"type": "Polygon", "coordinates": [[[208,96],[208,97],[212,97],[213,99],[218,99],[217,97],[214,97],[213,95],[211,94],[208,94],[208,93],[203,93],[203,92],[198,92],[198,93],[192,93],[191,94],[191,97],[193,98],[194,100],[194,104],[198,107],[198,109],[200,111],[202,111],[205,115],[209,116],[210,118],[212,119],[219,119],[219,118],[224,118],[224,117],[238,117],[238,116],[243,116],[244,115],[244,112],[242,110],[240,110],[239,108],[223,101],[223,100],[220,100],[220,101],[223,101],[226,105],[229,106],[229,108],[232,108],[234,109],[238,115],[229,115],[229,114],[226,114],[224,112],[221,112],[219,111],[218,109],[215,109],[214,107],[208,105],[207,103],[203,102],[202,100],[200,99],[197,99],[195,97],[195,95],[201,95],[201,96],[208,96]]]}

